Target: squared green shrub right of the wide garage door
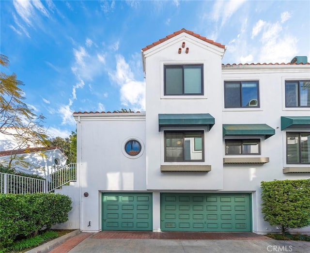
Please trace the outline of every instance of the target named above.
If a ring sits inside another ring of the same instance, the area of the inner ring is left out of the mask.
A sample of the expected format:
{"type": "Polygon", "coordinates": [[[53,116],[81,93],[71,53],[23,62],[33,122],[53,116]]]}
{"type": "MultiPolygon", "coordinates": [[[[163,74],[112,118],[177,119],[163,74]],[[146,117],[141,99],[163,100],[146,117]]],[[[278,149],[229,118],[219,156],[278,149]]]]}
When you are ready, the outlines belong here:
{"type": "Polygon", "coordinates": [[[263,219],[281,226],[283,236],[310,225],[310,179],[262,182],[261,188],[263,219]]]}

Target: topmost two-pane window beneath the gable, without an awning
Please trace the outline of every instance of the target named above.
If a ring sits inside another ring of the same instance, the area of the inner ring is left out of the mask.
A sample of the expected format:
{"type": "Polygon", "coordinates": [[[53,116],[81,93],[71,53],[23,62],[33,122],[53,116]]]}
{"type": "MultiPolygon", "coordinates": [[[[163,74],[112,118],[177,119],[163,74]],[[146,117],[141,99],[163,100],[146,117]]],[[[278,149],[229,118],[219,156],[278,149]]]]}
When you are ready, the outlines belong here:
{"type": "Polygon", "coordinates": [[[164,65],[164,95],[203,95],[203,65],[164,65]]]}

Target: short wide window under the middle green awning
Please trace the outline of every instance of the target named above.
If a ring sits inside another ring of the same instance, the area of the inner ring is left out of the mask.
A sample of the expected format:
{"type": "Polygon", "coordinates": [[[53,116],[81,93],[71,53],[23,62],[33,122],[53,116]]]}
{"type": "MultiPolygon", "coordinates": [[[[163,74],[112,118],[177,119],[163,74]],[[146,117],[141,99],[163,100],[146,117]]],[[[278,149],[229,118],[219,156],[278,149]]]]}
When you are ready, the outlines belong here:
{"type": "Polygon", "coordinates": [[[260,155],[260,139],[225,140],[226,155],[260,155]]]}

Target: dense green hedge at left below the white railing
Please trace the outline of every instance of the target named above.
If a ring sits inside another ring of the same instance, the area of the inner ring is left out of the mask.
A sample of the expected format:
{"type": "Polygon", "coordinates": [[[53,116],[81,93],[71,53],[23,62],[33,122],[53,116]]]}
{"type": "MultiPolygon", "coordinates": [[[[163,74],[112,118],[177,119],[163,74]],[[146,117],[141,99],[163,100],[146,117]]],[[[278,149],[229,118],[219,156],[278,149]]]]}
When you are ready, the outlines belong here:
{"type": "Polygon", "coordinates": [[[0,194],[0,248],[17,236],[31,237],[44,227],[68,221],[71,198],[54,193],[0,194]]]}

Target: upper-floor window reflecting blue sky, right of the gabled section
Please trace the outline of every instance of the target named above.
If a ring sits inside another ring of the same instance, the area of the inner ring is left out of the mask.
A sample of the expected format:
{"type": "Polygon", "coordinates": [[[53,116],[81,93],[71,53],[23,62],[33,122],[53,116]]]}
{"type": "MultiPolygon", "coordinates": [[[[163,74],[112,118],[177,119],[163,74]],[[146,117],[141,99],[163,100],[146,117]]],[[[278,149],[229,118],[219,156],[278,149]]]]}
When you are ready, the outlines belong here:
{"type": "Polygon", "coordinates": [[[224,82],[225,108],[260,107],[258,81],[224,82]]]}

